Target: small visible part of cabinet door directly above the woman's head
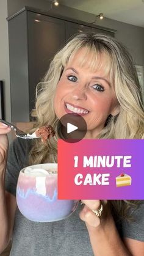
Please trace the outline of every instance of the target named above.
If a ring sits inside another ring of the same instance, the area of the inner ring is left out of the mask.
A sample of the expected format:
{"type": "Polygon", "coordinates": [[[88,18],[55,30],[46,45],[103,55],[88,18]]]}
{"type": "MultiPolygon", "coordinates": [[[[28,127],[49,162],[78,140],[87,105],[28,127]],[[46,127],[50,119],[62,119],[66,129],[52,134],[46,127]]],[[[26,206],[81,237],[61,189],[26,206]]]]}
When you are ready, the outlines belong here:
{"type": "Polygon", "coordinates": [[[91,27],[73,23],[70,21],[65,21],[65,39],[66,41],[72,37],[74,34],[77,34],[79,32],[90,32],[91,27]]]}

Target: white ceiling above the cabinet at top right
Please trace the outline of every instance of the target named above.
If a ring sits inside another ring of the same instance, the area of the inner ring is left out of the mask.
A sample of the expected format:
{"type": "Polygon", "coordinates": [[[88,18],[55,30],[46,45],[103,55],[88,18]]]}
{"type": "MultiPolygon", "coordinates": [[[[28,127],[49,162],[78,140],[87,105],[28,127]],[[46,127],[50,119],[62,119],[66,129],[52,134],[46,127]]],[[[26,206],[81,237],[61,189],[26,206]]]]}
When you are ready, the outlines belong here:
{"type": "Polygon", "coordinates": [[[144,0],[58,0],[60,4],[144,27],[144,0]]]}

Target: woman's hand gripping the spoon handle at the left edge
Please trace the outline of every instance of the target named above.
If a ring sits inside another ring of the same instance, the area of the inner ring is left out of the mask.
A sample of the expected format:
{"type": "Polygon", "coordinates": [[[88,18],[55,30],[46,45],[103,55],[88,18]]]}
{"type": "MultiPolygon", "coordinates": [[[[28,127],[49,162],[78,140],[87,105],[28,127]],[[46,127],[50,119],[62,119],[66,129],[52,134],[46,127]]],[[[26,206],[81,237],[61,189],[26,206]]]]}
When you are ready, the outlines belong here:
{"type": "MultiPolygon", "coordinates": [[[[5,165],[7,159],[7,150],[8,150],[8,138],[7,133],[10,132],[10,127],[4,125],[4,123],[0,122],[0,166],[5,165]]],[[[1,169],[0,169],[1,172],[1,169]]]]}

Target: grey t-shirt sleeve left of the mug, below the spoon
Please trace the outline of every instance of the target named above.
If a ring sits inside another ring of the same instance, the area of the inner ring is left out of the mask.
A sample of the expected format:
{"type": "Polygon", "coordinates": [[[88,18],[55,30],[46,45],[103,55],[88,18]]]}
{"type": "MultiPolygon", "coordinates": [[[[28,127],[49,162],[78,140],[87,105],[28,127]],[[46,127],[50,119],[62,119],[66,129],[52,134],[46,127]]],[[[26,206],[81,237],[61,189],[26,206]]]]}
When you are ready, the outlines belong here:
{"type": "Polygon", "coordinates": [[[16,196],[16,185],[20,170],[25,166],[27,166],[27,142],[24,139],[16,138],[10,144],[5,170],[5,190],[14,196],[16,196]]]}

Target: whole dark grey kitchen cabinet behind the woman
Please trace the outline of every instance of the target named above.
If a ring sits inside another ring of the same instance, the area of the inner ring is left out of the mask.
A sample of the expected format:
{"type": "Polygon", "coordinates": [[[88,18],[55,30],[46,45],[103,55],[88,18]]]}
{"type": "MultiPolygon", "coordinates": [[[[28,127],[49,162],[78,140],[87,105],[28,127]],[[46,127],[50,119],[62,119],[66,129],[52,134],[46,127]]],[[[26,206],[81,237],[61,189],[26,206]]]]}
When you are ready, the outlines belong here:
{"type": "Polygon", "coordinates": [[[34,109],[35,87],[48,70],[49,62],[64,43],[78,32],[114,32],[95,25],[48,16],[41,10],[24,7],[7,18],[12,122],[29,122],[34,109]]]}

